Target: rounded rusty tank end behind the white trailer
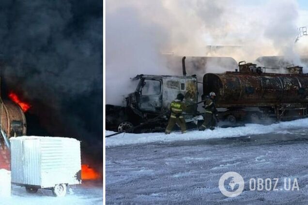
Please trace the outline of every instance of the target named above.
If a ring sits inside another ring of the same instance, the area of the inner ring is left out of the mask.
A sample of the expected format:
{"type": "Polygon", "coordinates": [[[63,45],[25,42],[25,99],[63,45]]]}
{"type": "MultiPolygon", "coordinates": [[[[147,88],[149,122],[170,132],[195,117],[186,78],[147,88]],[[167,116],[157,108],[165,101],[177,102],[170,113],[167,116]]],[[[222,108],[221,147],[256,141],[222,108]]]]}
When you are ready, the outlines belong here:
{"type": "Polygon", "coordinates": [[[7,137],[26,135],[27,123],[22,109],[16,103],[0,101],[1,128],[7,137]]]}

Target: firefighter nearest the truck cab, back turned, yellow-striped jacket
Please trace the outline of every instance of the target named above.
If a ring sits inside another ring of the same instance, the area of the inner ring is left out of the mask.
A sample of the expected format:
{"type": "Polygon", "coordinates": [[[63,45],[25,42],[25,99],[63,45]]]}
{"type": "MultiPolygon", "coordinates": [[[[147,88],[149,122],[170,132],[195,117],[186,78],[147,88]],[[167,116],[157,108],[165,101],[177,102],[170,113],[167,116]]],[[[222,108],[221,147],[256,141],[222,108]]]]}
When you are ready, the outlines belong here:
{"type": "Polygon", "coordinates": [[[183,111],[186,110],[186,105],[183,102],[184,95],[179,93],[174,101],[170,104],[171,115],[168,121],[168,125],[165,133],[169,134],[172,131],[175,123],[181,127],[182,133],[186,132],[186,122],[184,117],[182,116],[183,111]]]}

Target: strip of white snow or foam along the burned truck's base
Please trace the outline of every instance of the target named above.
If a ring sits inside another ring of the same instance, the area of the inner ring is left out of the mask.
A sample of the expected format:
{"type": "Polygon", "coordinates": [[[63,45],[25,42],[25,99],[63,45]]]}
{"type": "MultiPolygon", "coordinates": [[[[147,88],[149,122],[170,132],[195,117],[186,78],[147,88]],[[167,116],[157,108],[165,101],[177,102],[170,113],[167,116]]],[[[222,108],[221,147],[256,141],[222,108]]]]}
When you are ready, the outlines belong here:
{"type": "MultiPolygon", "coordinates": [[[[205,130],[190,131],[185,134],[179,134],[180,132],[171,132],[166,135],[163,132],[160,133],[122,133],[112,137],[106,138],[106,146],[121,146],[130,144],[142,144],[152,142],[171,142],[171,141],[183,141],[183,140],[200,140],[211,138],[224,138],[224,137],[240,137],[253,134],[266,134],[271,132],[281,132],[293,128],[308,128],[308,118],[297,119],[288,122],[280,122],[271,125],[260,124],[246,124],[245,127],[236,128],[216,128],[214,131],[205,130]]],[[[114,132],[106,131],[106,135],[114,132]]]]}

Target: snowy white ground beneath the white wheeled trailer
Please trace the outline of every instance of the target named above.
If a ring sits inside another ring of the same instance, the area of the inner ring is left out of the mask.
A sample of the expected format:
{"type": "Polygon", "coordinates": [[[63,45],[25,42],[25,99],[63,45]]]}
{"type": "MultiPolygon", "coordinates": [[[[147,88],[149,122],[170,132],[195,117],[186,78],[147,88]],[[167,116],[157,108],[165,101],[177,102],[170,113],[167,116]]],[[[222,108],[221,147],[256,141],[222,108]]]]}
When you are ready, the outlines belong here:
{"type": "Polygon", "coordinates": [[[82,185],[72,186],[74,193],[64,197],[54,197],[51,190],[38,190],[27,193],[24,187],[12,186],[10,198],[1,198],[0,205],[102,205],[103,182],[84,181],[82,185]]]}

